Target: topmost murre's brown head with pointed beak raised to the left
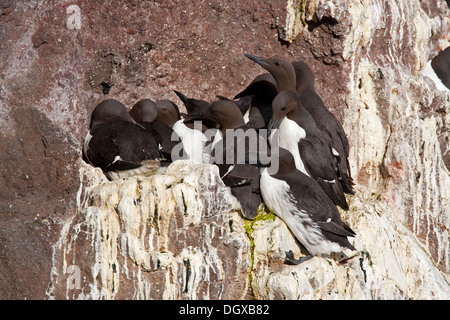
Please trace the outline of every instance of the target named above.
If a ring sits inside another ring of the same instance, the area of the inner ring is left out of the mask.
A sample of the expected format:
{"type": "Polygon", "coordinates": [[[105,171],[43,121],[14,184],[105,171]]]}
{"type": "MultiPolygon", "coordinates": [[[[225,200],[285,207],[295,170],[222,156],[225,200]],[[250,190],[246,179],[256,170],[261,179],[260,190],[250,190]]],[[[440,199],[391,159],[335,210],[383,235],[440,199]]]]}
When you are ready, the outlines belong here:
{"type": "Polygon", "coordinates": [[[277,82],[278,92],[295,91],[295,70],[289,61],[281,58],[261,58],[251,54],[245,56],[270,72],[277,82]]]}

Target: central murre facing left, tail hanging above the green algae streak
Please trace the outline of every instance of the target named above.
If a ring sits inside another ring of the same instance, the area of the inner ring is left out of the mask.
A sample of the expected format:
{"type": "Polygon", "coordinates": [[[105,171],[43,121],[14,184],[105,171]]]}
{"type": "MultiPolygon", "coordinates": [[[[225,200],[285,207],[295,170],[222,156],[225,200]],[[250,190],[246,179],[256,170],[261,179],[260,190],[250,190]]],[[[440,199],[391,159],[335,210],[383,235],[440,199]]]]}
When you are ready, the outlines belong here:
{"type": "Polygon", "coordinates": [[[254,219],[262,204],[260,172],[248,163],[251,153],[256,163],[257,152],[261,147],[266,147],[266,140],[257,130],[245,124],[241,110],[232,101],[215,101],[202,111],[202,116],[219,124],[221,134],[213,141],[213,163],[219,167],[224,184],[231,187],[231,193],[239,200],[242,215],[254,219]]]}

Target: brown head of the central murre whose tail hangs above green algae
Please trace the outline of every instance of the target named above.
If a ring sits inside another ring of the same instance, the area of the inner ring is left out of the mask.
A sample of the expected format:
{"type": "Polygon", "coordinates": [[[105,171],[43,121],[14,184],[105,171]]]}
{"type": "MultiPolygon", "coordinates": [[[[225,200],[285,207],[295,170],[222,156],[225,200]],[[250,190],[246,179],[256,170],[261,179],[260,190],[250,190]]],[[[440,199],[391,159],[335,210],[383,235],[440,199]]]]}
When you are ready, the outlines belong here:
{"type": "Polygon", "coordinates": [[[202,110],[200,116],[217,122],[220,130],[235,129],[245,125],[238,105],[230,100],[218,100],[202,110]]]}

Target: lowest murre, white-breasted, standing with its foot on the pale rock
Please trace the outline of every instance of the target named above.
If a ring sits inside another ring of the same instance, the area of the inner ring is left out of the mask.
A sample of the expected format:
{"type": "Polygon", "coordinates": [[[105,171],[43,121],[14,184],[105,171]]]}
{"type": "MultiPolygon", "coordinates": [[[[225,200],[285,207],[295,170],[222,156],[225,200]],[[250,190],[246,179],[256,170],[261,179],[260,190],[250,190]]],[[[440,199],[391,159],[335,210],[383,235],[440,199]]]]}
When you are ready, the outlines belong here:
{"type": "Polygon", "coordinates": [[[347,237],[355,232],[345,224],[336,206],[316,181],[297,170],[293,155],[279,149],[278,171],[270,168],[261,172],[261,194],[264,203],[280,217],[298,241],[311,254],[295,260],[292,251],[286,252],[286,260],[299,264],[312,256],[341,254],[343,248],[355,250],[347,237]]]}

